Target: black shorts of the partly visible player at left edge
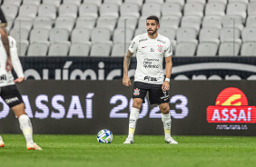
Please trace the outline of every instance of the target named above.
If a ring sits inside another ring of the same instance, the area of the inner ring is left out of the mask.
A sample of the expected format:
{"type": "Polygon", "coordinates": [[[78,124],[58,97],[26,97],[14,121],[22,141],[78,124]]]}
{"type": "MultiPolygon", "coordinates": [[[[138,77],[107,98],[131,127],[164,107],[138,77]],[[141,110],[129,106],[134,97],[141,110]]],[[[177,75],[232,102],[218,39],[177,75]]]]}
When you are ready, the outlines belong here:
{"type": "Polygon", "coordinates": [[[0,87],[0,95],[10,108],[20,103],[24,103],[15,84],[0,87]]]}

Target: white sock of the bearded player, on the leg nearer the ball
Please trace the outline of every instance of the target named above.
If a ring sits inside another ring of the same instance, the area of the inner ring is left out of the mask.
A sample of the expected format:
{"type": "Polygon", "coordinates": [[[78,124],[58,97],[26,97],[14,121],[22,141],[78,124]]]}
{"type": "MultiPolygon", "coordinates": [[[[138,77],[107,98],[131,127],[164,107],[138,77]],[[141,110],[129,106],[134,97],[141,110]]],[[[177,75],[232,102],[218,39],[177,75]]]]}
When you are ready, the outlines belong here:
{"type": "Polygon", "coordinates": [[[140,109],[132,108],[129,118],[129,135],[128,137],[133,138],[137,121],[139,119],[140,109]]]}

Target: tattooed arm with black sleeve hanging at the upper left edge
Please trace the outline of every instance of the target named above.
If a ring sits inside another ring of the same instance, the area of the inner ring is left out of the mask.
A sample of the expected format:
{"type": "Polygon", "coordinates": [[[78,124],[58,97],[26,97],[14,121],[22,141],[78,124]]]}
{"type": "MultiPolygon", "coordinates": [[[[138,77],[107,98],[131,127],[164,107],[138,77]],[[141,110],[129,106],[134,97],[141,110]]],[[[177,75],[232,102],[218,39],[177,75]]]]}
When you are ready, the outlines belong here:
{"type": "Polygon", "coordinates": [[[5,47],[5,51],[7,54],[7,61],[6,61],[6,71],[11,71],[13,68],[12,61],[11,61],[11,55],[10,55],[10,46],[9,46],[9,40],[8,40],[8,34],[6,31],[7,22],[5,20],[5,15],[3,14],[1,8],[0,8],[0,34],[1,39],[5,47]]]}

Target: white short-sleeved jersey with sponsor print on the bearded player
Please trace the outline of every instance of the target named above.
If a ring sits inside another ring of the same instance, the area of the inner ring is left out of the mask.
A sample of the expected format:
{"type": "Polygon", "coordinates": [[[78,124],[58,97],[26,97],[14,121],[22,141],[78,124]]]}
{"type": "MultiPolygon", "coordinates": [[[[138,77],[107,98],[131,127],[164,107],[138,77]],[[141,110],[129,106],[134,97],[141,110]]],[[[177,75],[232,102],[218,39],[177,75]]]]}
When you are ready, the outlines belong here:
{"type": "Polygon", "coordinates": [[[137,35],[133,38],[129,51],[136,53],[137,58],[134,81],[163,83],[162,61],[164,57],[172,55],[172,45],[167,37],[158,34],[155,39],[151,39],[147,33],[137,35]]]}

